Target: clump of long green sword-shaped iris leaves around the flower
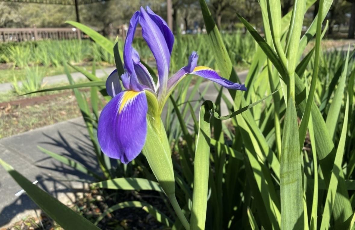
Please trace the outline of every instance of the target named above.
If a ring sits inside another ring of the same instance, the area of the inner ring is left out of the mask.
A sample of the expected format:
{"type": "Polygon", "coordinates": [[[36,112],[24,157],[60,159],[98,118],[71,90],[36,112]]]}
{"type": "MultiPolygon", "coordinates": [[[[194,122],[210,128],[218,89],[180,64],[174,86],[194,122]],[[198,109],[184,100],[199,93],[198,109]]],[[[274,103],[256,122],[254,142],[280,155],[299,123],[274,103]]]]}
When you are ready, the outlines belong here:
{"type": "MultiPolygon", "coordinates": [[[[248,90],[222,92],[218,87],[215,111],[220,111],[222,101],[233,112],[248,108],[276,91],[272,97],[227,122],[213,115],[209,122],[200,122],[195,113],[206,93],[198,90],[202,80],[189,89],[186,85],[192,79],[186,78],[171,95],[164,126],[173,153],[176,197],[187,220],[203,220],[202,224],[191,222],[191,229],[353,229],[354,50],[351,50],[353,46],[347,52],[320,50],[320,41],[328,27],[324,19],[333,0],[320,0],[318,15],[301,36],[304,14],[314,3],[314,0],[296,1],[293,9],[282,17],[279,0],[261,0],[264,37],[237,15],[258,47],[245,80],[248,90]],[[316,40],[315,46],[304,54],[312,38],[316,40]],[[186,121],[191,121],[192,127],[187,127],[186,121]],[[198,132],[206,130],[206,125],[211,130],[211,136],[204,140],[211,147],[208,151],[195,145],[198,132]],[[207,191],[195,191],[193,186],[199,176],[194,164],[199,151],[204,151],[209,159],[207,191]],[[207,210],[193,209],[195,198],[206,194],[207,210]]],[[[204,0],[200,0],[200,5],[209,38],[202,47],[213,52],[213,62],[220,75],[236,82],[237,73],[213,16],[204,0]]],[[[114,55],[113,42],[86,26],[69,23],[114,55]]],[[[176,62],[182,66],[186,62],[185,48],[179,42],[179,34],[176,40],[174,49],[179,51],[176,62]]],[[[123,165],[111,164],[101,153],[96,137],[97,103],[98,94],[107,98],[105,84],[94,73],[81,72],[91,82],[75,84],[67,71],[71,85],[48,90],[73,89],[101,171],[90,171],[72,159],[39,148],[91,175],[95,187],[151,190],[158,192],[162,200],[166,199],[142,154],[123,165]],[[89,101],[83,98],[78,87],[91,87],[89,101]]],[[[209,110],[200,111],[209,114],[209,110]]],[[[143,209],[165,228],[184,229],[168,202],[164,211],[141,201],[120,202],[91,223],[33,186],[10,165],[0,162],[38,206],[65,229],[76,229],[78,223],[82,228],[95,229],[95,224],[105,215],[127,207],[143,209]]]]}

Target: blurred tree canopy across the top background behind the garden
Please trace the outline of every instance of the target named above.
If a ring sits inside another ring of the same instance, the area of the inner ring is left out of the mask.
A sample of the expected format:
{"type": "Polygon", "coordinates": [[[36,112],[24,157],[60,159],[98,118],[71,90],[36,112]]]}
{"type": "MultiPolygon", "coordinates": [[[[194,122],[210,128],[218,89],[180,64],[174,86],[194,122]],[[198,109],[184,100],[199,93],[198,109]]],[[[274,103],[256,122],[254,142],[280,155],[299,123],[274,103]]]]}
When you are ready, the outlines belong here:
{"type": "MultiPolygon", "coordinates": [[[[292,9],[294,0],[282,0],[283,15],[292,9]]],[[[172,0],[174,31],[176,26],[183,30],[203,27],[203,18],[197,0],[172,0]]],[[[235,12],[241,13],[251,24],[261,27],[261,11],[257,0],[208,0],[212,15],[217,26],[222,30],[242,28],[235,12]]],[[[134,11],[141,5],[149,5],[155,12],[166,18],[165,0],[129,0],[100,1],[79,6],[81,22],[94,27],[103,34],[113,28],[128,23],[134,11]]],[[[317,13],[317,4],[310,9],[311,22],[317,13]]],[[[353,32],[355,21],[355,0],[334,0],[328,13],[332,28],[335,25],[350,24],[353,32]],[[353,20],[350,20],[352,16],[353,20]]],[[[0,2],[0,27],[64,27],[66,20],[76,20],[75,7],[72,5],[52,5],[19,2],[0,2]]],[[[336,27],[336,26],[335,26],[336,27]]],[[[350,37],[350,35],[349,35],[350,37]]]]}

